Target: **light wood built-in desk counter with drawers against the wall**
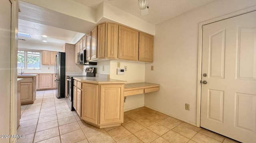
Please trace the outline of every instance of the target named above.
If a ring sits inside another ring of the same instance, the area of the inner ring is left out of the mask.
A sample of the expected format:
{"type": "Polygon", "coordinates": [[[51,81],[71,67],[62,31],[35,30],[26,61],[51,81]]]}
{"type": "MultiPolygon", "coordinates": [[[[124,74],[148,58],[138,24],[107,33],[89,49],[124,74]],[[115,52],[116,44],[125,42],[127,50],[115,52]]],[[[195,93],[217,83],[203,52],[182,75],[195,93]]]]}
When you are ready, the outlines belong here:
{"type": "Polygon", "coordinates": [[[160,84],[140,82],[124,84],[124,96],[143,94],[158,91],[160,84]]]}

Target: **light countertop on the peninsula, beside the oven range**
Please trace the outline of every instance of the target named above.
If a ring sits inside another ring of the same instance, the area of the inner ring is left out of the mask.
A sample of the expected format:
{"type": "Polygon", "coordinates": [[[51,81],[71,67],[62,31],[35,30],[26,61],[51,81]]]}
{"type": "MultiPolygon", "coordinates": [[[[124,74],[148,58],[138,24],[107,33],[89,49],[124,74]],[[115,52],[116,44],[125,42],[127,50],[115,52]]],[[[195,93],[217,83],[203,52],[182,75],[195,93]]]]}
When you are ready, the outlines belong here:
{"type": "Polygon", "coordinates": [[[126,81],[116,80],[110,78],[100,78],[100,77],[74,77],[75,80],[79,82],[86,82],[92,84],[124,84],[126,81]]]}

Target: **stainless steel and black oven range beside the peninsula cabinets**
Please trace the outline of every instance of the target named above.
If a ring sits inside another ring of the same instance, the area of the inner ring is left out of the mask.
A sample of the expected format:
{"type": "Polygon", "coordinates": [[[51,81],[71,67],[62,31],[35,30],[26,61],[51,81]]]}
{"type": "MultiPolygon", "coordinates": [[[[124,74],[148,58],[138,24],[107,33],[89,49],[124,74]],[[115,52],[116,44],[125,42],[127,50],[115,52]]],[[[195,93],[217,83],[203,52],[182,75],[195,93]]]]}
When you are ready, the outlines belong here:
{"type": "Polygon", "coordinates": [[[95,68],[86,68],[86,75],[68,75],[67,76],[67,102],[70,110],[73,108],[73,86],[74,86],[74,77],[86,77],[86,76],[95,76],[95,68]]]}

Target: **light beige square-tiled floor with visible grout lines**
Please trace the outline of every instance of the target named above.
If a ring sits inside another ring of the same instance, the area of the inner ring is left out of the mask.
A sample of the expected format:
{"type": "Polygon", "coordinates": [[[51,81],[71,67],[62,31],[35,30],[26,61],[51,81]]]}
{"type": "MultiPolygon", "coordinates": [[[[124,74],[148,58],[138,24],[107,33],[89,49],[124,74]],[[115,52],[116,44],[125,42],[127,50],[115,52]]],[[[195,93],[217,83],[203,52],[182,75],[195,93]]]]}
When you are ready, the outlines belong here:
{"type": "Polygon", "coordinates": [[[38,91],[21,107],[18,143],[238,143],[146,107],[124,112],[119,127],[98,129],[70,111],[54,90],[38,91]]]}

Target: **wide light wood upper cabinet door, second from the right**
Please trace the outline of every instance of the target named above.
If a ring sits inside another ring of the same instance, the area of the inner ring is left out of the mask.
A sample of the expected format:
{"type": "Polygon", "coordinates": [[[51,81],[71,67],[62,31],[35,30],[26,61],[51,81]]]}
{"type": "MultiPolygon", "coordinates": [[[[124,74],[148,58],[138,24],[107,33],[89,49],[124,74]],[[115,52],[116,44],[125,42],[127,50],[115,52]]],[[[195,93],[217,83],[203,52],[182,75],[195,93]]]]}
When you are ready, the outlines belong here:
{"type": "Polygon", "coordinates": [[[118,59],[138,61],[139,32],[119,25],[118,59]]]}

